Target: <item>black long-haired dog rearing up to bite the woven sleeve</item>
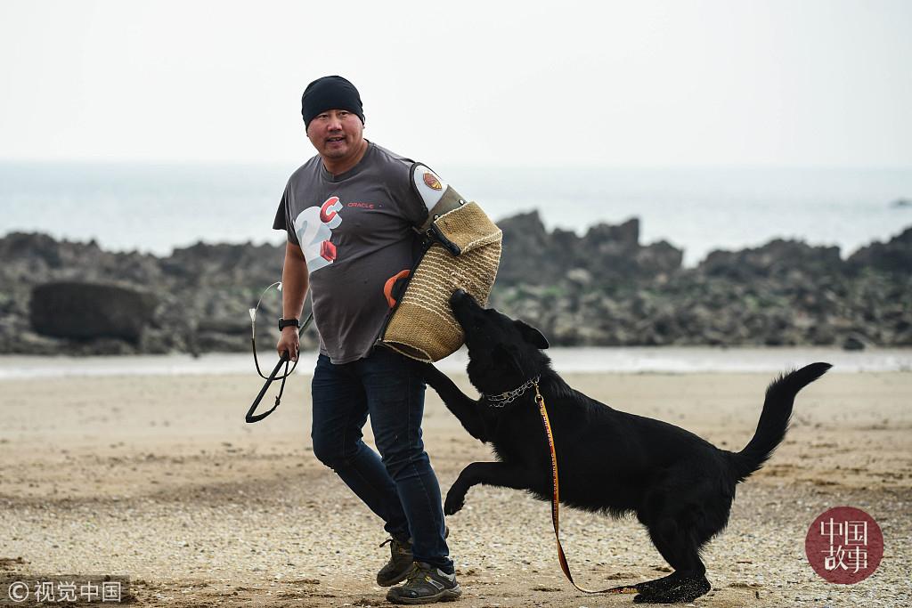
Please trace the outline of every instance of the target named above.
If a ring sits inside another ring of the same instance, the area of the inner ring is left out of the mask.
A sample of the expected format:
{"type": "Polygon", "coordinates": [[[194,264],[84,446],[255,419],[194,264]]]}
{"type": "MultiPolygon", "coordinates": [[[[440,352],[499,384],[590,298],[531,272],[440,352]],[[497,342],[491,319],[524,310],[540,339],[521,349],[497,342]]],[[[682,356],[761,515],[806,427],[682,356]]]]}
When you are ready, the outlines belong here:
{"type": "Polygon", "coordinates": [[[756,434],[746,448],[730,452],[567,386],[541,352],[548,342],[534,327],[482,309],[461,290],[450,304],[465,331],[469,379],[482,397],[467,397],[434,366],[425,366],[425,376],[462,426],[490,443],[500,461],[462,469],[447,494],[446,514],[460,510],[466,492],[479,483],[551,500],[551,456],[534,398],[536,381],[554,432],[561,501],[615,516],[636,513],[674,568],[664,578],[637,584],[634,602],[686,603],[710,591],[700,548],[725,528],[735,485],[782,442],[795,395],[830,365],[815,363],[775,380],[756,434]]]}

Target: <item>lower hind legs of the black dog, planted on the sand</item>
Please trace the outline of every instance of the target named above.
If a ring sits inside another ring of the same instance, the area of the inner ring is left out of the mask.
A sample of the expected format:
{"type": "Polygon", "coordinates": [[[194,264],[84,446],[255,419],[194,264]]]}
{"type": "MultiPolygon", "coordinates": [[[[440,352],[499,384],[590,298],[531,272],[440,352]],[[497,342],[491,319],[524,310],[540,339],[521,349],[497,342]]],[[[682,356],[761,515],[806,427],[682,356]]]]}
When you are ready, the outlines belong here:
{"type": "Polygon", "coordinates": [[[708,593],[711,585],[693,531],[670,517],[650,525],[648,530],[656,549],[675,572],[637,584],[640,594],[634,597],[634,603],[689,603],[708,593]]]}

